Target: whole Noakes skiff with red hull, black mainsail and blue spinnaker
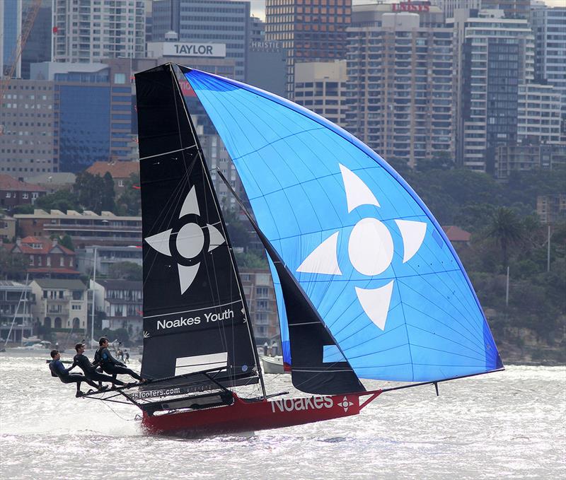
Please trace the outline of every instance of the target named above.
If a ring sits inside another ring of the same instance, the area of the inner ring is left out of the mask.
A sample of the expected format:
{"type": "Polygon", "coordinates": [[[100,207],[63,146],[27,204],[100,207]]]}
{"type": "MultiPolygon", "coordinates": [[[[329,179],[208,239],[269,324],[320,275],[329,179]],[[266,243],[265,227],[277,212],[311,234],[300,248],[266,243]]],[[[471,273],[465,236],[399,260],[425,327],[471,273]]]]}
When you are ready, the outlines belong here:
{"type": "Polygon", "coordinates": [[[136,89],[141,375],[153,381],[88,398],[139,406],[149,433],[207,435],[359,414],[386,391],[360,378],[415,386],[502,369],[454,248],[374,151],[288,100],[183,66],[141,72],[136,89]],[[270,259],[291,380],[310,397],[265,391],[213,188],[221,172],[190,115],[197,99],[238,170],[270,259]],[[259,393],[241,398],[233,389],[243,385],[259,393]]]}

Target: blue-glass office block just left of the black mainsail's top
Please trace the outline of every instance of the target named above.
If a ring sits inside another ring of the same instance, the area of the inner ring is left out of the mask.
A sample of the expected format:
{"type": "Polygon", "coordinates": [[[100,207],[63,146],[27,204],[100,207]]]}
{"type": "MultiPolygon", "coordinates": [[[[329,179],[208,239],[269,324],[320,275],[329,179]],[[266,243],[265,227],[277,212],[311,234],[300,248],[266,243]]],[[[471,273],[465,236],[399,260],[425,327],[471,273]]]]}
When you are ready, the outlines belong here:
{"type": "Polygon", "coordinates": [[[98,160],[132,160],[130,60],[103,62],[31,66],[32,78],[53,83],[59,171],[79,172],[98,160]]]}

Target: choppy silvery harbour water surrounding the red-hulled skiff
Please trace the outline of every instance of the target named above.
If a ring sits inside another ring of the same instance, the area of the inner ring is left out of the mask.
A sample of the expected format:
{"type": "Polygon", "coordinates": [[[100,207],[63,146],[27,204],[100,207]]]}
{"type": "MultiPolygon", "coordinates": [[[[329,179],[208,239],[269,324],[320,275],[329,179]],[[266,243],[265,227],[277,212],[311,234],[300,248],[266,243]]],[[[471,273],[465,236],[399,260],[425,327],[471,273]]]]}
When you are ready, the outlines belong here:
{"type": "Polygon", "coordinates": [[[443,383],[440,397],[386,393],[359,416],[249,438],[176,440],[143,435],[135,407],[75,399],[45,358],[0,353],[1,479],[566,479],[564,367],[510,366],[443,383]]]}

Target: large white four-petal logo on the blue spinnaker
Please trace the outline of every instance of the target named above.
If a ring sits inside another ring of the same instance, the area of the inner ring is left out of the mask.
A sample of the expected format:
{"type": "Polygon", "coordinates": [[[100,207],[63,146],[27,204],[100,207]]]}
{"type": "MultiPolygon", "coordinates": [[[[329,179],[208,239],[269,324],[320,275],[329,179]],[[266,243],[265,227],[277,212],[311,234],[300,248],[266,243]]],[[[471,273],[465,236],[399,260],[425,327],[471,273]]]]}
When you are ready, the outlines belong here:
{"type": "MultiPolygon", "coordinates": [[[[373,192],[352,170],[340,165],[346,192],[348,213],[362,205],[379,207],[373,192]]],[[[408,262],[420,249],[427,233],[427,224],[410,220],[395,220],[403,239],[403,263],[408,262]]],[[[342,275],[338,265],[338,234],[335,232],[304,259],[296,271],[308,274],[342,275]]],[[[358,221],[348,241],[348,256],[354,269],[366,276],[382,274],[393,260],[393,238],[388,228],[377,218],[366,217],[358,221]]],[[[357,298],[369,319],[381,330],[385,329],[393,280],[379,288],[355,287],[357,298]]]]}

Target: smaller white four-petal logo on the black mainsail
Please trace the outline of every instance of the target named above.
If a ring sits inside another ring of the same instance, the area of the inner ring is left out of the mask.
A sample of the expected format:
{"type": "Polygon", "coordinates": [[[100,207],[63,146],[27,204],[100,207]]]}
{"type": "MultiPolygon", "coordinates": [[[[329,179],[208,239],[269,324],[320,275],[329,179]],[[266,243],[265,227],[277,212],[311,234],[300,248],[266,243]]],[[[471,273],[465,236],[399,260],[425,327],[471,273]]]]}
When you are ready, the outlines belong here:
{"type": "MultiPolygon", "coordinates": [[[[179,212],[179,218],[189,215],[190,213],[200,215],[197,193],[194,186],[190,189],[190,192],[187,194],[187,197],[183,202],[183,206],[179,212]]],[[[208,229],[210,238],[208,252],[212,252],[212,250],[216,247],[219,247],[226,242],[216,227],[207,223],[207,226],[204,228],[208,229]]],[[[193,222],[187,222],[180,228],[175,238],[175,247],[181,257],[194,259],[200,255],[202,248],[204,247],[204,233],[202,230],[202,226],[193,222]]],[[[156,235],[151,235],[151,237],[145,238],[144,240],[148,242],[154,250],[157,250],[159,253],[167,255],[168,257],[172,257],[173,255],[171,255],[171,250],[169,248],[172,232],[173,228],[170,228],[169,230],[156,233],[156,235]]],[[[185,293],[187,288],[191,286],[191,283],[197,276],[199,267],[200,262],[196,262],[195,264],[188,266],[177,264],[181,294],[185,293]]]]}

